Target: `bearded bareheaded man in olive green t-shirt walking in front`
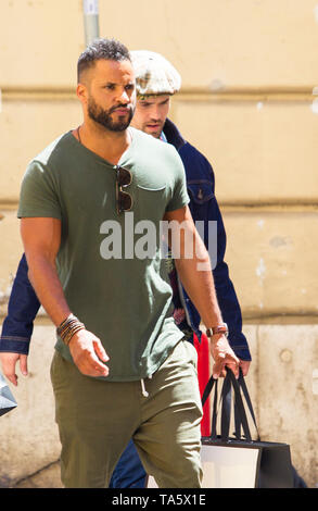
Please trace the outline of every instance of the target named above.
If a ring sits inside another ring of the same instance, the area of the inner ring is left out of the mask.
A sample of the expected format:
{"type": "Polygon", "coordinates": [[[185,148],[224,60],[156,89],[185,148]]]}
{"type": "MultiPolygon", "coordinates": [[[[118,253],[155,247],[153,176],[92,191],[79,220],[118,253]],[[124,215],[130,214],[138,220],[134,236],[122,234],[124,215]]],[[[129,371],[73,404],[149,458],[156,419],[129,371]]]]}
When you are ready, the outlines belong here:
{"type": "MultiPolygon", "coordinates": [[[[174,147],[128,127],[135,77],[120,42],[101,39],[80,55],[77,96],[84,123],[30,162],[18,208],[29,277],[58,327],[51,377],[62,481],[106,487],[133,437],[160,487],[200,487],[196,353],[161,276],[162,221],[185,227],[176,266],[213,329],[214,374],[237,372],[239,361],[222,335],[183,166],[174,147]]],[[[2,363],[13,367],[10,354],[2,363]]]]}

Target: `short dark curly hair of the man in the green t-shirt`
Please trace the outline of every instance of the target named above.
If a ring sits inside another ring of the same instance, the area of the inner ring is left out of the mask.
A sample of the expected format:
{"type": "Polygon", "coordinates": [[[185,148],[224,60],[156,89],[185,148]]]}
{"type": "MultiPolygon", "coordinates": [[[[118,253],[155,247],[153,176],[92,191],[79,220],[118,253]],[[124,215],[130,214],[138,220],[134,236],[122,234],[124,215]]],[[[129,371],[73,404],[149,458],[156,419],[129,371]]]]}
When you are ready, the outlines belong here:
{"type": "Polygon", "coordinates": [[[114,60],[120,62],[130,60],[130,53],[123,42],[116,39],[96,39],[79,55],[77,61],[77,82],[85,70],[92,67],[98,60],[114,60]]]}

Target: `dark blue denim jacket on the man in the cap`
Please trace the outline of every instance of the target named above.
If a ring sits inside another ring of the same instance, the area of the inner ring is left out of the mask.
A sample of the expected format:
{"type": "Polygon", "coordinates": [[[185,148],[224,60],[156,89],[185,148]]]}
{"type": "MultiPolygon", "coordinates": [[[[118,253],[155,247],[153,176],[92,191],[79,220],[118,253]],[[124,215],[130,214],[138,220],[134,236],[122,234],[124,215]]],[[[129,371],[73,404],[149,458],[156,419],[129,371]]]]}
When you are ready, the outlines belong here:
{"type": "MultiPolygon", "coordinates": [[[[228,266],[224,261],[226,233],[221,214],[214,195],[214,173],[203,154],[187,142],[177,127],[167,120],[164,133],[167,141],[178,150],[187,173],[190,210],[194,221],[217,221],[217,265],[213,271],[217,299],[224,321],[229,326],[229,342],[236,354],[242,360],[251,360],[247,342],[242,334],[241,310],[233,285],[229,278],[228,266]]],[[[205,229],[207,233],[207,228],[205,229]]],[[[205,239],[207,244],[207,239],[205,239]]],[[[0,337],[0,351],[28,354],[34,320],[40,302],[27,277],[27,262],[23,254],[13,283],[8,315],[3,322],[0,337]]],[[[188,321],[199,335],[200,315],[183,290],[188,321]]]]}

